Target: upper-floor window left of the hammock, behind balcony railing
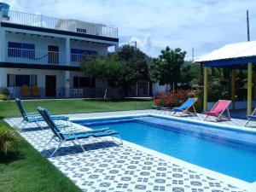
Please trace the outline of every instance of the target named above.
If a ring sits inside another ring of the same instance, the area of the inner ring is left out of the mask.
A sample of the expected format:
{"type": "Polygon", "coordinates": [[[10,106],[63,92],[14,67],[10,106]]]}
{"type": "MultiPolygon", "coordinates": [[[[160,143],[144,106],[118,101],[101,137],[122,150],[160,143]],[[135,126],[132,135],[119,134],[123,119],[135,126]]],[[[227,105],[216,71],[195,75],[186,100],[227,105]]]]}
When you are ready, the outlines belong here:
{"type": "Polygon", "coordinates": [[[35,59],[35,45],[8,42],[8,56],[35,59]]]}

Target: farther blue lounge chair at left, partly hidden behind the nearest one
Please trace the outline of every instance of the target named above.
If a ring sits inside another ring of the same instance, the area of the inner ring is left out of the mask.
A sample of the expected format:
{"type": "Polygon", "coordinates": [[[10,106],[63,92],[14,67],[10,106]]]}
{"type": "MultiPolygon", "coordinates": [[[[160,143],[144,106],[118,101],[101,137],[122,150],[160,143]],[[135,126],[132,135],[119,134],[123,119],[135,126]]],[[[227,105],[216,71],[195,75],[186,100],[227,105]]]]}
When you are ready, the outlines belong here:
{"type": "MultiPolygon", "coordinates": [[[[21,126],[21,129],[23,129],[27,123],[36,123],[39,128],[43,129],[43,127],[40,125],[40,122],[44,121],[42,116],[39,113],[26,113],[25,108],[23,107],[23,103],[20,99],[16,98],[15,102],[17,103],[17,106],[20,110],[22,121],[19,125],[21,126]]],[[[55,120],[68,120],[68,117],[66,116],[54,116],[53,119],[55,120]]],[[[19,126],[16,125],[16,126],[19,126]]]]}

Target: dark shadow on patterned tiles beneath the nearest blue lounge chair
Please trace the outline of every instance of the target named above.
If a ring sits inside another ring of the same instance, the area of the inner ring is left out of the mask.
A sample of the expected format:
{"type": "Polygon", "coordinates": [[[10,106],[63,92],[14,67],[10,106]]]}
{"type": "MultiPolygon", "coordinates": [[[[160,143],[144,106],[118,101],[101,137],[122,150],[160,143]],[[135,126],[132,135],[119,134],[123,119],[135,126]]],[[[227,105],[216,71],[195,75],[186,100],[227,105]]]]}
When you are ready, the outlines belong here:
{"type": "MultiPolygon", "coordinates": [[[[113,141],[102,141],[97,143],[83,144],[85,152],[102,149],[102,148],[113,148],[117,146],[119,146],[119,144],[114,143],[113,141]]],[[[41,151],[41,154],[43,154],[46,158],[49,158],[50,154],[52,154],[54,151],[55,151],[55,148],[50,148],[48,150],[44,149],[43,151],[41,151]]],[[[83,152],[84,152],[83,149],[79,145],[73,145],[73,146],[59,148],[53,157],[65,156],[67,154],[80,154],[83,152]]]]}

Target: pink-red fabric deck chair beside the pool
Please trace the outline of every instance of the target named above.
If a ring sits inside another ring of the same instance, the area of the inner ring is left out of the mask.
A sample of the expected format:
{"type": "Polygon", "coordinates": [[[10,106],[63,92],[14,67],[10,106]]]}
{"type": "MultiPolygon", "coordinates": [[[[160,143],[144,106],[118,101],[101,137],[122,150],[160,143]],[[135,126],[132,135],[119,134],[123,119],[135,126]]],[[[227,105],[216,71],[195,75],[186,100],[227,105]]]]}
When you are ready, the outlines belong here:
{"type": "Polygon", "coordinates": [[[216,117],[216,121],[221,119],[230,120],[230,103],[231,101],[229,100],[218,100],[218,102],[213,106],[213,108],[209,112],[207,112],[207,117],[204,120],[206,120],[209,116],[216,117]],[[227,117],[223,115],[224,111],[227,111],[227,117]]]}

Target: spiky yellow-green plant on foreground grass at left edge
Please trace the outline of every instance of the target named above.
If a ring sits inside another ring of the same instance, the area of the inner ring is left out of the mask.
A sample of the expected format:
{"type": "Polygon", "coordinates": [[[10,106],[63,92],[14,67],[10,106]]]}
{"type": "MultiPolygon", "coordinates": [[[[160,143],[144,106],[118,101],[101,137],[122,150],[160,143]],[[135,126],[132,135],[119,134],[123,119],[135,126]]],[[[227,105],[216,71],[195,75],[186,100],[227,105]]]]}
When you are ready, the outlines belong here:
{"type": "Polygon", "coordinates": [[[16,154],[19,137],[15,131],[0,127],[0,157],[16,154]]]}

